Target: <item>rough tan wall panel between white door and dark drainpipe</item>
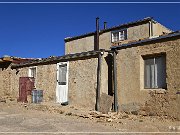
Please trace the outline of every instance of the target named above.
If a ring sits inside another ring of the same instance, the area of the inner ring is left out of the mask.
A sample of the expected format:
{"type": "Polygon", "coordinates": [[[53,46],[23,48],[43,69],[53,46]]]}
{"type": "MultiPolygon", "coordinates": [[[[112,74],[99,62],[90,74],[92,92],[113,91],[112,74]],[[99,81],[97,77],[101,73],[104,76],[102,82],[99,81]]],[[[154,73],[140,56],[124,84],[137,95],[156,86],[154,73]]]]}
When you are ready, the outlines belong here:
{"type": "Polygon", "coordinates": [[[70,104],[94,109],[97,87],[97,58],[69,62],[70,104]]]}

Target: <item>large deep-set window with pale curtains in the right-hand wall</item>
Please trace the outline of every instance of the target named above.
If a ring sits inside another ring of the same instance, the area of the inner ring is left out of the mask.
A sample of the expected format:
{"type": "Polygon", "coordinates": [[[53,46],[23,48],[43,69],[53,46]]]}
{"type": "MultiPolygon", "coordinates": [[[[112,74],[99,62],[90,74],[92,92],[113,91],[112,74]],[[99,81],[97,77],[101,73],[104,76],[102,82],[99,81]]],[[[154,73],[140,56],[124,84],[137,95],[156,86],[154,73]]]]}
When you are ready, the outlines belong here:
{"type": "Polygon", "coordinates": [[[144,88],[166,88],[165,56],[144,58],[144,88]]]}

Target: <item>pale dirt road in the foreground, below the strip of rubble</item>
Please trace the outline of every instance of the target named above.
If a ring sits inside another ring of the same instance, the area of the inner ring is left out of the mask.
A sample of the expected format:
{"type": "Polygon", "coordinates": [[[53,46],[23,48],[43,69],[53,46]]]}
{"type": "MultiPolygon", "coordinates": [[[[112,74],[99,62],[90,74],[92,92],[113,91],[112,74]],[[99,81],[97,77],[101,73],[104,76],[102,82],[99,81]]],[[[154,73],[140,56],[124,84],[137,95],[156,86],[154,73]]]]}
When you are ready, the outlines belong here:
{"type": "Polygon", "coordinates": [[[67,114],[0,103],[0,134],[180,134],[180,123],[169,120],[133,116],[103,122],[67,114]]]}

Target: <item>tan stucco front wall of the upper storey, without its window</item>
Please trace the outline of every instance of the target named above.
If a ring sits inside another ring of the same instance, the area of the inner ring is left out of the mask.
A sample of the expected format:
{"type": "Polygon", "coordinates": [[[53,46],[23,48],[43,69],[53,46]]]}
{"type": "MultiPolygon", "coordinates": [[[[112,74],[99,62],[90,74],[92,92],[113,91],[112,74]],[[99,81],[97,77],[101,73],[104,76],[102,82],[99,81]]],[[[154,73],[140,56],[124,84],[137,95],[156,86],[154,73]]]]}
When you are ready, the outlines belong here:
{"type": "MultiPolygon", "coordinates": [[[[121,41],[126,43],[131,40],[138,40],[149,37],[149,23],[127,28],[128,38],[121,41]]],[[[65,43],[65,54],[80,53],[94,50],[94,37],[88,36],[65,43]]],[[[109,50],[111,47],[111,31],[101,33],[99,36],[99,48],[109,50]]]]}

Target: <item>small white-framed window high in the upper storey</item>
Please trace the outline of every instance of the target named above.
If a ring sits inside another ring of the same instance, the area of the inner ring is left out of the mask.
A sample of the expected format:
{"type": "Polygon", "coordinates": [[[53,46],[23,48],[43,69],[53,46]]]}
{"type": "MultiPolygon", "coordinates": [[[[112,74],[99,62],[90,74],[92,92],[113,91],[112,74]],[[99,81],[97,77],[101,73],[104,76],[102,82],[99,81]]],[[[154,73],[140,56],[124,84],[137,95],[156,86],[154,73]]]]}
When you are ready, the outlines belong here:
{"type": "Polygon", "coordinates": [[[125,30],[119,30],[119,31],[113,31],[111,32],[111,39],[112,42],[126,40],[127,39],[127,29],[125,30]]]}

